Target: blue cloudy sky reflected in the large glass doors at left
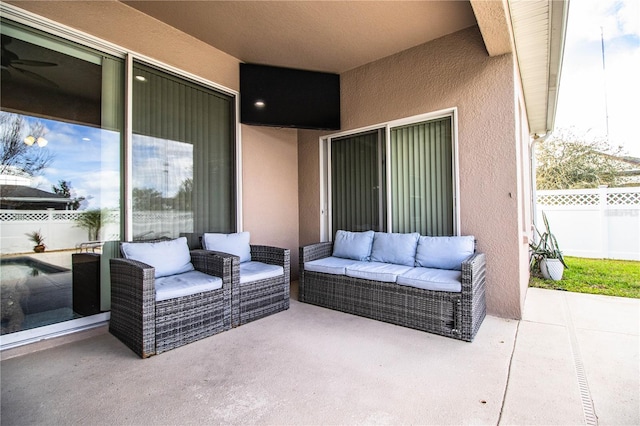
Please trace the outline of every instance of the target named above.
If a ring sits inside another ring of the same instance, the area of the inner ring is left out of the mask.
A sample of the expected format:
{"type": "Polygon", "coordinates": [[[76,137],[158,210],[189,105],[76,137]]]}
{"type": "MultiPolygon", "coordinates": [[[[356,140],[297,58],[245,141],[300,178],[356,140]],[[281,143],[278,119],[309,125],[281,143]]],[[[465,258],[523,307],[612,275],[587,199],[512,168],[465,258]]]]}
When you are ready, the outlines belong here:
{"type": "MultiPolygon", "coordinates": [[[[118,132],[42,118],[28,117],[27,121],[41,122],[49,141],[45,148],[34,144],[30,149],[47,149],[53,154],[51,165],[33,178],[33,186],[52,192],[53,185],[65,180],[72,198],[85,197],[81,210],[120,205],[118,132]]],[[[191,144],[134,135],[132,158],[136,188],[151,188],[173,197],[181,184],[192,178],[191,144]]]]}

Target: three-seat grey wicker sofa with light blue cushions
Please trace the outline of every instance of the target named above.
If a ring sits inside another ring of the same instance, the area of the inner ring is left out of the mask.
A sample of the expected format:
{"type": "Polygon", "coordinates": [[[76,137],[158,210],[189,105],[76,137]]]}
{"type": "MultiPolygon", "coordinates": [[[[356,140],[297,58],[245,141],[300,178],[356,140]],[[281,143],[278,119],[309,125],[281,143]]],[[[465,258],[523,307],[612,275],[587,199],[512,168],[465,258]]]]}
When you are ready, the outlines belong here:
{"type": "Polygon", "coordinates": [[[344,232],[300,248],[301,302],[473,340],[486,315],[485,255],[473,237],[344,232]]]}

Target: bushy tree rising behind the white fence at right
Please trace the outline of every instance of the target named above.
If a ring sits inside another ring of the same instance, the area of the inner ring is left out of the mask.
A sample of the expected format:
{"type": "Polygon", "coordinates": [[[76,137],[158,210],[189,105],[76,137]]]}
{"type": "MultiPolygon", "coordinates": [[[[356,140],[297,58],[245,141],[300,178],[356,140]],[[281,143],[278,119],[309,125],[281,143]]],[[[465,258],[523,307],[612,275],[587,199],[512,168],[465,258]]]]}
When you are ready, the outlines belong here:
{"type": "Polygon", "coordinates": [[[538,189],[597,188],[620,186],[623,169],[617,160],[622,147],[613,148],[606,140],[585,141],[572,132],[554,132],[536,145],[538,189]]]}

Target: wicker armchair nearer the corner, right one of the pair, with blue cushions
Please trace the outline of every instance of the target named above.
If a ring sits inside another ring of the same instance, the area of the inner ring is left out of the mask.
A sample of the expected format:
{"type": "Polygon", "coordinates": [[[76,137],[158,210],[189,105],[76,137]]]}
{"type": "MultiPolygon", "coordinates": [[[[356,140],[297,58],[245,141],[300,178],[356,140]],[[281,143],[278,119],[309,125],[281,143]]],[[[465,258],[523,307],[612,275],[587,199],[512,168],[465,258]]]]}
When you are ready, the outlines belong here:
{"type": "Polygon", "coordinates": [[[204,249],[233,255],[232,327],[289,309],[290,250],[250,244],[250,238],[249,232],[199,238],[204,249]]]}

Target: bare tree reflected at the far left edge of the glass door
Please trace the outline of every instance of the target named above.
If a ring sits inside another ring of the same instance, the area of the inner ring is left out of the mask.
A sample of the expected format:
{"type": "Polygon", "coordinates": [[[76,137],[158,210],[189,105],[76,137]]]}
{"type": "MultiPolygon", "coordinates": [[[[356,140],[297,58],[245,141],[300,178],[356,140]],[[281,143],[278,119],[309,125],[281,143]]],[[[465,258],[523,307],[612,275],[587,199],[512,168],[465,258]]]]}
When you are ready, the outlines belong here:
{"type": "MultiPolygon", "coordinates": [[[[25,127],[21,115],[0,112],[0,174],[36,176],[53,160],[53,154],[47,148],[24,143],[25,127]]],[[[29,125],[30,136],[37,139],[45,133],[42,123],[29,125]]]]}

